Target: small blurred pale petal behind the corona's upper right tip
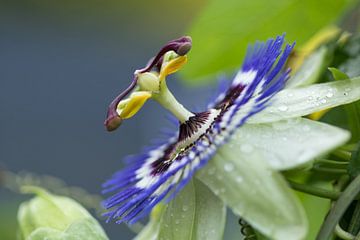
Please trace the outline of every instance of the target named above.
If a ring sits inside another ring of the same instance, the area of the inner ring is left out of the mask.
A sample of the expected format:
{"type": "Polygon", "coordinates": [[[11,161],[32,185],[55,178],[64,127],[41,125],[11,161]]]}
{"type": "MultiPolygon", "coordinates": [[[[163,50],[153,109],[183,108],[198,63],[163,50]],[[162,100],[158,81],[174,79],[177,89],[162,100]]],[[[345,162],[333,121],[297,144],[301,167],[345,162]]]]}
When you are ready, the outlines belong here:
{"type": "Polygon", "coordinates": [[[289,79],[286,86],[293,88],[315,83],[324,70],[327,52],[327,47],[323,46],[311,54],[294,76],[289,79]]]}

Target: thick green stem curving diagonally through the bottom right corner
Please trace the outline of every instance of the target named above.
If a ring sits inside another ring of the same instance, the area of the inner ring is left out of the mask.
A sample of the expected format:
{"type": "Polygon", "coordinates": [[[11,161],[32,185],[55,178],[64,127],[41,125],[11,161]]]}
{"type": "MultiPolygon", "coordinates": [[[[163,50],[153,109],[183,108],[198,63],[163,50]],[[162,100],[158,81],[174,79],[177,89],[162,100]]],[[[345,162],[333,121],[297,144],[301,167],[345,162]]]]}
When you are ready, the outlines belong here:
{"type": "Polygon", "coordinates": [[[317,240],[331,239],[336,224],[340,221],[342,215],[349,207],[351,202],[360,193],[360,175],[357,176],[340,195],[333,208],[330,210],[323,222],[317,240]]]}

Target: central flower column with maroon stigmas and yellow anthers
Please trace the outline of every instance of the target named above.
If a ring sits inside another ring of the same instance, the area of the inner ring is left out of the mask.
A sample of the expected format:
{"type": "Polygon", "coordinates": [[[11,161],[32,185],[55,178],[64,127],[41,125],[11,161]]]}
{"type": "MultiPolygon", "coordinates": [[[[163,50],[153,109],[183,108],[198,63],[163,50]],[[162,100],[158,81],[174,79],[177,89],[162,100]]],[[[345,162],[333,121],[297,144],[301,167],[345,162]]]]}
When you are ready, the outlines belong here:
{"type": "Polygon", "coordinates": [[[166,85],[166,77],[186,64],[186,54],[190,49],[190,37],[172,40],[151,58],[146,67],[136,70],[129,87],[109,105],[104,122],[106,129],[117,129],[124,119],[133,117],[149,99],[170,111],[181,124],[194,117],[195,114],[180,104],[166,85]]]}

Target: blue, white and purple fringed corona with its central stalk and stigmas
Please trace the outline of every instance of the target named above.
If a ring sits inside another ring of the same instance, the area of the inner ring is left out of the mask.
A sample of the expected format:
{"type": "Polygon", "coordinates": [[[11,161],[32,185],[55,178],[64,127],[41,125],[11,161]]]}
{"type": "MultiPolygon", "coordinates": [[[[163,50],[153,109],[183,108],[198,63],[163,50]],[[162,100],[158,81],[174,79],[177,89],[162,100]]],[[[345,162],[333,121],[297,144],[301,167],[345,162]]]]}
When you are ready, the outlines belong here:
{"type": "Polygon", "coordinates": [[[134,223],[160,201],[170,201],[237,128],[270,104],[289,77],[284,66],[293,45],[282,50],[283,42],[284,36],[279,36],[250,46],[232,84],[199,113],[178,103],[165,79],[186,63],[191,38],[170,41],[145,68],[135,71],[130,86],[109,106],[107,129],[116,129],[151,98],[179,120],[179,130],[166,143],[132,159],[104,183],[103,192],[112,194],[104,201],[108,221],[134,223]]]}

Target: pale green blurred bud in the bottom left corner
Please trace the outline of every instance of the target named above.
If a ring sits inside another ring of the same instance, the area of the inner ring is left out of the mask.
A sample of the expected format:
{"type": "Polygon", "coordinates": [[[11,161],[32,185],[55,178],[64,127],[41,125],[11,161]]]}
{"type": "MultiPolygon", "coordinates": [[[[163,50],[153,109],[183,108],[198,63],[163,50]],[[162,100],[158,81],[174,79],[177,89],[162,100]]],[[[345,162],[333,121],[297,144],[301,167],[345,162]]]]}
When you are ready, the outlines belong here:
{"type": "Polygon", "coordinates": [[[22,191],[37,194],[19,207],[23,239],[108,239],[100,224],[73,199],[33,186],[23,187],[22,191]]]}

